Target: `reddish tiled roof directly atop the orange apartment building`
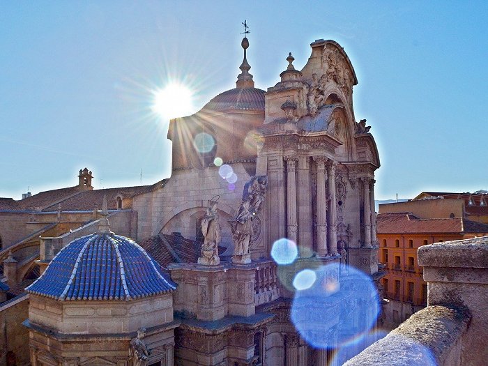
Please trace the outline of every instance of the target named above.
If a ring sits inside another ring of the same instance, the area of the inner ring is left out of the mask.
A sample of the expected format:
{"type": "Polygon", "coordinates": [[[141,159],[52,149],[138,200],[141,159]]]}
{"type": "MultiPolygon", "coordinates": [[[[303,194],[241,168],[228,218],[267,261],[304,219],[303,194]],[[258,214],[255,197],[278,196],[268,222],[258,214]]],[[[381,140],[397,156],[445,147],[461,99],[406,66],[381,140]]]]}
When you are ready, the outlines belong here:
{"type": "Polygon", "coordinates": [[[488,234],[488,225],[464,218],[419,219],[411,213],[381,213],[378,234],[488,234]]]}

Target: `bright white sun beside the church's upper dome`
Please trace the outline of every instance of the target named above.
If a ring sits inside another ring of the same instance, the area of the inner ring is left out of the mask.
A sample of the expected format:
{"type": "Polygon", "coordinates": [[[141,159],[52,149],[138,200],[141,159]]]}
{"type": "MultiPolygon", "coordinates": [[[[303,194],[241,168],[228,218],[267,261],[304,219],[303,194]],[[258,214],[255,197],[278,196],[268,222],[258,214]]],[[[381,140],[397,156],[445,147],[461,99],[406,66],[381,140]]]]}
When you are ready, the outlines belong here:
{"type": "Polygon", "coordinates": [[[153,92],[153,111],[165,119],[193,113],[193,93],[183,84],[171,83],[153,92]]]}

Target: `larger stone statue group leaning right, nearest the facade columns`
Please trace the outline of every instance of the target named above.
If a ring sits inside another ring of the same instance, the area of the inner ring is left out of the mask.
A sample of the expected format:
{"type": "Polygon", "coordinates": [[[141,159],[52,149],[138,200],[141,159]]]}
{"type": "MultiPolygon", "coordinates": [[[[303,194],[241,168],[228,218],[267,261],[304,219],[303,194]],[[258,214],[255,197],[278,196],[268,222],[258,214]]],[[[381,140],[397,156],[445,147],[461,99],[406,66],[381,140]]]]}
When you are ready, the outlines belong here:
{"type": "Polygon", "coordinates": [[[244,185],[243,201],[239,211],[234,220],[229,220],[234,243],[233,263],[251,263],[252,220],[261,208],[266,188],[268,188],[267,176],[254,176],[244,185]]]}

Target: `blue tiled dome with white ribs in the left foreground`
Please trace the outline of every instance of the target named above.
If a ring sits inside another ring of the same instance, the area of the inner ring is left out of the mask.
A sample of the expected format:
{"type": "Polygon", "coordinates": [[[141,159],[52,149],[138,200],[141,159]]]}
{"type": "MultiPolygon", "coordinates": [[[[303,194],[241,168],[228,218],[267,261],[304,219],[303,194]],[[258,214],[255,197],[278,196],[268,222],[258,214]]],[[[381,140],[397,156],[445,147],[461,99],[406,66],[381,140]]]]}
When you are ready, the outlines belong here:
{"type": "Polygon", "coordinates": [[[176,284],[137,243],[93,234],[63,247],[26,291],[57,300],[131,300],[174,289],[176,284]]]}

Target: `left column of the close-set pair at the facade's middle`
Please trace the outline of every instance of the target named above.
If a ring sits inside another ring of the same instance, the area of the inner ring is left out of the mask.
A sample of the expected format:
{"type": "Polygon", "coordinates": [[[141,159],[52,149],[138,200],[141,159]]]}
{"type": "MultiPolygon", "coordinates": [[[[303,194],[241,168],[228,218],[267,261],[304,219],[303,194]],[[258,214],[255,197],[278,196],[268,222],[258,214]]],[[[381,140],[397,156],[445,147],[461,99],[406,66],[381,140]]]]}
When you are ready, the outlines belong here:
{"type": "Polygon", "coordinates": [[[327,255],[327,196],[326,158],[314,158],[317,162],[317,256],[327,255]]]}

